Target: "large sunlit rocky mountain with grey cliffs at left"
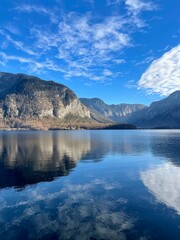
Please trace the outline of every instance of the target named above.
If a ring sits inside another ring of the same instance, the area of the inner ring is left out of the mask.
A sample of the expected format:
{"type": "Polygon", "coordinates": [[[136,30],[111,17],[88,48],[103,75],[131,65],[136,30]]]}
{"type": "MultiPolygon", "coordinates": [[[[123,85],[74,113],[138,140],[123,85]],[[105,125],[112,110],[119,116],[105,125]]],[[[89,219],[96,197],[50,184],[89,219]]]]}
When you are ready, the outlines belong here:
{"type": "Polygon", "coordinates": [[[90,111],[62,84],[24,74],[0,73],[0,119],[90,118],[90,111]]]}

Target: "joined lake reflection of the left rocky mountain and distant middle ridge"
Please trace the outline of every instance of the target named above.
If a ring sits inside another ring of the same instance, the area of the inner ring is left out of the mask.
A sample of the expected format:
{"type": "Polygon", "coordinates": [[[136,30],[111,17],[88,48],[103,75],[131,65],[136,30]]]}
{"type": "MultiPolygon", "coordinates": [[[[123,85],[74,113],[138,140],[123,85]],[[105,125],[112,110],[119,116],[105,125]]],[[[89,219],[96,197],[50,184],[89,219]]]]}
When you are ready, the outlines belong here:
{"type": "Polygon", "coordinates": [[[0,133],[0,187],[24,186],[68,175],[79,160],[105,155],[141,154],[144,138],[131,131],[59,131],[0,133]],[[103,134],[102,134],[103,133],[103,134]],[[103,137],[102,137],[103,136],[103,137]]]}

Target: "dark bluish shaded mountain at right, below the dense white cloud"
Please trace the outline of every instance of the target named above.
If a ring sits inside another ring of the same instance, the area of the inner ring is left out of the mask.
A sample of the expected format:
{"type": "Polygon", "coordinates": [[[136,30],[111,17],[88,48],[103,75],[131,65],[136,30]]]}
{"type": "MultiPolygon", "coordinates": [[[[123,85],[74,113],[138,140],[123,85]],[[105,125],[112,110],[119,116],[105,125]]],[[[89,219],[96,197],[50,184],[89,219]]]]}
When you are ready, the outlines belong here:
{"type": "Polygon", "coordinates": [[[153,102],[148,108],[132,115],[128,122],[139,127],[180,128],[180,91],[153,102]]]}

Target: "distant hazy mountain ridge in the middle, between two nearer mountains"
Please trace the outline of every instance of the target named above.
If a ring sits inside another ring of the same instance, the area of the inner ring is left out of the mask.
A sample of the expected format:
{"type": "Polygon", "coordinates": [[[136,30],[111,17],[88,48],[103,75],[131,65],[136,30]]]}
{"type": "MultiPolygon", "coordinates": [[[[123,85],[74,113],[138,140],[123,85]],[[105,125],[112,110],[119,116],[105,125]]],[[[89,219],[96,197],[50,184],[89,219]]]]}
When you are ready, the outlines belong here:
{"type": "Polygon", "coordinates": [[[80,98],[80,101],[90,109],[104,115],[115,122],[129,122],[134,112],[138,113],[147,107],[142,104],[112,104],[108,105],[99,98],[80,98]]]}

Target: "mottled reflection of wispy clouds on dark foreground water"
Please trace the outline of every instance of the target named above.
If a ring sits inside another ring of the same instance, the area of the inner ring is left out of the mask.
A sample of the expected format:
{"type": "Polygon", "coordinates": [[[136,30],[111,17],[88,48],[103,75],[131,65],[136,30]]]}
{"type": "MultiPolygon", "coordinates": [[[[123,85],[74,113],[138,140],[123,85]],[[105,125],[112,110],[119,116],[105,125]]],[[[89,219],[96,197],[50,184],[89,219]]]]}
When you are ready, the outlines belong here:
{"type": "Polygon", "coordinates": [[[14,193],[16,200],[6,198],[1,214],[3,239],[125,240],[125,232],[133,229],[135,219],[124,211],[127,200],[115,195],[112,199],[111,191],[117,191],[118,184],[110,184],[107,195],[106,182],[100,180],[83,184],[66,181],[61,187],[57,180],[54,184],[56,189],[51,191],[47,186],[36,186],[14,193]],[[13,208],[16,215],[4,214],[13,208]]]}

